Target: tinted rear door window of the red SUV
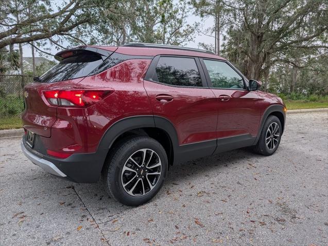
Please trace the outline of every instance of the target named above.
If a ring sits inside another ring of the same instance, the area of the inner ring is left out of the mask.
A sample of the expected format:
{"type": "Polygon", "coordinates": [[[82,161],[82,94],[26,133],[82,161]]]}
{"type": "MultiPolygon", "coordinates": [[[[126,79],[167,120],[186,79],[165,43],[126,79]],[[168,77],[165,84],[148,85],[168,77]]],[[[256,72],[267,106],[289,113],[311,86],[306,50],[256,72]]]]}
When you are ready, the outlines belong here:
{"type": "Polygon", "coordinates": [[[161,57],[156,67],[154,80],[179,86],[202,86],[194,58],[161,57]]]}

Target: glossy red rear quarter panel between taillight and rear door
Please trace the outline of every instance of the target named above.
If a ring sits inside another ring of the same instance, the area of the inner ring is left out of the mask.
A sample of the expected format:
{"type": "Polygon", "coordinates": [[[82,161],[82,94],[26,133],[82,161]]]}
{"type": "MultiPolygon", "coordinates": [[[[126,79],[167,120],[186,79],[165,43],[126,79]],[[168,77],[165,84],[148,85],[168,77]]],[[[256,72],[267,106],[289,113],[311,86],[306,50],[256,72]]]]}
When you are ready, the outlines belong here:
{"type": "Polygon", "coordinates": [[[88,107],[87,152],[96,151],[105,131],[116,121],[131,117],[152,115],[143,77],[150,64],[149,59],[127,60],[92,77],[87,77],[78,86],[83,88],[112,90],[102,101],[88,107]]]}

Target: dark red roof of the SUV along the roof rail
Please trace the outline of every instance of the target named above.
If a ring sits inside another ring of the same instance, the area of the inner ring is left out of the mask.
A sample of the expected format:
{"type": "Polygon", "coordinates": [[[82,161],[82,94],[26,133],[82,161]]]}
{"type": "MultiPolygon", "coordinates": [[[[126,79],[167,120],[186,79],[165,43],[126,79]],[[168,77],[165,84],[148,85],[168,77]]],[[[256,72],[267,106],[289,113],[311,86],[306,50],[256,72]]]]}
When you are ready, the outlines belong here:
{"type": "Polygon", "coordinates": [[[212,58],[219,60],[226,60],[216,55],[215,53],[207,50],[194,49],[180,46],[169,46],[169,45],[156,45],[156,44],[145,44],[145,43],[132,43],[123,46],[92,46],[100,49],[109,51],[115,51],[121,54],[129,55],[145,55],[145,56],[156,56],[162,55],[187,55],[187,56],[198,56],[203,58],[212,58]]]}

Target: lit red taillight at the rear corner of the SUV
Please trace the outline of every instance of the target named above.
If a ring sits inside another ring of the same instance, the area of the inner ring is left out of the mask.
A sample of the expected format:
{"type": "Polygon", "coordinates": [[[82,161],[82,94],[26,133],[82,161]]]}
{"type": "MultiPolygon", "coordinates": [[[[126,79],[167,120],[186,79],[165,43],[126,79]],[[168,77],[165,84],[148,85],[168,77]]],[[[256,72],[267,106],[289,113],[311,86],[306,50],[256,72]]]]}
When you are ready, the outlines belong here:
{"type": "Polygon", "coordinates": [[[87,107],[103,98],[110,91],[104,90],[46,90],[44,97],[51,105],[87,107]]]}

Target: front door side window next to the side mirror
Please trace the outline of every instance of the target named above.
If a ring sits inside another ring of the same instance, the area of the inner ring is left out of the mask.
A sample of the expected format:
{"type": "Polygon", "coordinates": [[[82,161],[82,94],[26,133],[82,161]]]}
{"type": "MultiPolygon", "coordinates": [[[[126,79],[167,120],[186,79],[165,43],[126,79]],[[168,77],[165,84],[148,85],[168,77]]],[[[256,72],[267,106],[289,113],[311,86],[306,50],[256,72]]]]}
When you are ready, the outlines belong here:
{"type": "Polygon", "coordinates": [[[241,78],[241,76],[227,63],[205,59],[203,59],[203,61],[208,69],[212,87],[245,88],[243,78],[241,78]]]}

